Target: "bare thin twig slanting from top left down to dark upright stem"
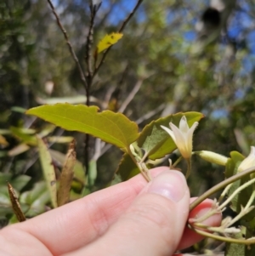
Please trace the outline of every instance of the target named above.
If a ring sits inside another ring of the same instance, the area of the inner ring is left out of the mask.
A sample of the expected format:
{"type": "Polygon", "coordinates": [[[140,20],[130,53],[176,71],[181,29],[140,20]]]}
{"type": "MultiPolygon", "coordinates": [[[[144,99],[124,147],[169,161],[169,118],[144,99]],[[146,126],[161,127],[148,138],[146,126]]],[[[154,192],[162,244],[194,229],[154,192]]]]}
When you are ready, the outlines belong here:
{"type": "Polygon", "coordinates": [[[67,35],[66,31],[65,31],[64,26],[62,26],[62,24],[61,24],[61,22],[60,22],[60,20],[59,20],[59,15],[56,13],[56,11],[55,11],[55,9],[54,9],[54,5],[53,5],[53,3],[51,2],[51,0],[48,0],[48,4],[49,4],[50,8],[52,9],[52,12],[54,13],[54,16],[55,16],[55,18],[56,18],[57,24],[58,24],[60,30],[62,31],[62,33],[63,33],[63,35],[64,35],[64,37],[65,37],[65,42],[66,42],[66,44],[68,45],[68,48],[69,48],[69,51],[70,51],[70,53],[71,53],[72,59],[73,59],[73,60],[76,62],[76,64],[77,64],[77,68],[78,68],[78,70],[79,70],[82,83],[83,83],[85,89],[87,90],[87,88],[88,88],[88,83],[87,83],[87,81],[86,81],[84,72],[83,72],[83,70],[82,70],[82,65],[80,64],[80,61],[79,61],[78,58],[77,58],[77,54],[75,54],[74,49],[72,48],[71,42],[69,41],[69,37],[68,37],[68,35],[67,35]]]}

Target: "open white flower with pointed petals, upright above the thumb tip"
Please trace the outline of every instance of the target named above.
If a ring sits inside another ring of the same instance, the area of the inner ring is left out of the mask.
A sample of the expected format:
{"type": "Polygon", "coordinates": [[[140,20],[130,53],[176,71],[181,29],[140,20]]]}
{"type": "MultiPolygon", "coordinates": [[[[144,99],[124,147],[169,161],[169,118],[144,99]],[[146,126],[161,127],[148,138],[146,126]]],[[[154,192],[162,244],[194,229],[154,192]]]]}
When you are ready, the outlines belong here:
{"type": "Polygon", "coordinates": [[[198,126],[198,122],[194,122],[191,128],[189,128],[188,122],[186,117],[182,117],[179,122],[179,128],[177,128],[173,122],[169,123],[170,130],[167,127],[161,126],[167,134],[169,134],[175,145],[178,147],[178,151],[180,151],[181,155],[188,159],[191,156],[192,153],[192,136],[195,131],[195,128],[198,126]]]}

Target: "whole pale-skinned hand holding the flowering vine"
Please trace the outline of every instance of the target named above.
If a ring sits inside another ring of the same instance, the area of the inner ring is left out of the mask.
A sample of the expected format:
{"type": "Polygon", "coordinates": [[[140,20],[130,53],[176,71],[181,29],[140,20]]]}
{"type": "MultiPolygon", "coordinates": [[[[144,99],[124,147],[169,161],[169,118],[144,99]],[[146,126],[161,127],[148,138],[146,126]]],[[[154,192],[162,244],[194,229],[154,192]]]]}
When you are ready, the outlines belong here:
{"type": "MultiPolygon", "coordinates": [[[[185,227],[212,205],[189,213],[184,176],[168,168],[151,170],[149,184],[138,175],[63,207],[0,231],[1,256],[170,256],[203,237],[185,227]]],[[[207,219],[219,225],[220,214],[207,219]]]]}

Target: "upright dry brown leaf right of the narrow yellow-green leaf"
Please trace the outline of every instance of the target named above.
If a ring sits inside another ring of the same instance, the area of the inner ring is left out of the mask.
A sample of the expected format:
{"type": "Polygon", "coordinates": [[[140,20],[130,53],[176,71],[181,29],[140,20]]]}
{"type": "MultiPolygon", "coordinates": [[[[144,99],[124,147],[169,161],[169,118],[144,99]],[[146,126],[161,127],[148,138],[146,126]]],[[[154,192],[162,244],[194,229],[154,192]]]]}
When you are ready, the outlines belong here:
{"type": "Polygon", "coordinates": [[[71,190],[71,181],[73,178],[73,168],[77,160],[77,154],[75,151],[75,142],[71,142],[69,150],[65,157],[65,163],[61,171],[59,179],[59,191],[58,191],[58,206],[64,205],[69,201],[69,193],[71,190]]]}

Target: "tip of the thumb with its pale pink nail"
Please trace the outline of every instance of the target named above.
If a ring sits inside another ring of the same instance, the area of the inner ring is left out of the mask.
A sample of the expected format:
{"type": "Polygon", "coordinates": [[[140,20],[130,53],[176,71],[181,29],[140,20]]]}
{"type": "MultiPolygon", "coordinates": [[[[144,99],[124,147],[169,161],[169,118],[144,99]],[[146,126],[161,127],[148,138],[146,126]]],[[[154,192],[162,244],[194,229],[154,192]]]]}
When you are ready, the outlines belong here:
{"type": "Polygon", "coordinates": [[[178,171],[165,171],[156,176],[147,192],[165,196],[173,202],[179,202],[187,189],[184,174],[178,171]]]}

